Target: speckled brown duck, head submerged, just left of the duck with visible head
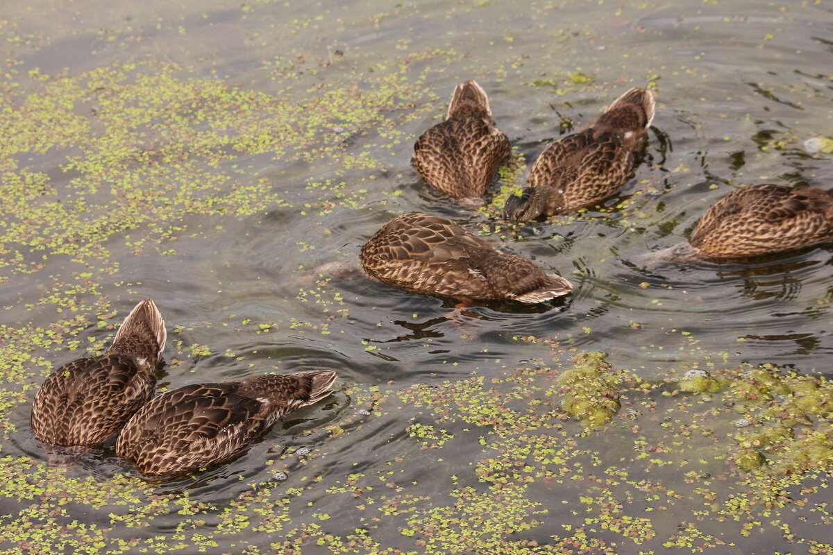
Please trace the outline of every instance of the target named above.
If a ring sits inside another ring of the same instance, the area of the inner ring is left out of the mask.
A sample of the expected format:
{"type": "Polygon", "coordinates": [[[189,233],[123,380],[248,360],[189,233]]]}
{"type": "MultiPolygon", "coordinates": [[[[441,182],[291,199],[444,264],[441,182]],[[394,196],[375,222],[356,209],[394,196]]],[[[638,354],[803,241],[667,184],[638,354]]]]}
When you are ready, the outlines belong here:
{"type": "Polygon", "coordinates": [[[478,205],[509,152],[509,138],[491,118],[486,92],[472,80],[454,89],[446,121],[416,140],[411,163],[436,191],[478,205]]]}

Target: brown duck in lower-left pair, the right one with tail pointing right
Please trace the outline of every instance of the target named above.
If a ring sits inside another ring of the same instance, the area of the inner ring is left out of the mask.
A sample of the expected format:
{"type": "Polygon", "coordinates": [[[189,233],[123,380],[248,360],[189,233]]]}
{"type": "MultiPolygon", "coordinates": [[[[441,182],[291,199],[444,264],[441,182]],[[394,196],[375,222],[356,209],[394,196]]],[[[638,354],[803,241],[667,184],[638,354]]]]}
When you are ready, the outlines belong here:
{"type": "Polygon", "coordinates": [[[227,462],[278,419],[327,397],[336,376],[312,370],[173,389],[133,414],[116,454],[157,481],[227,462]]]}

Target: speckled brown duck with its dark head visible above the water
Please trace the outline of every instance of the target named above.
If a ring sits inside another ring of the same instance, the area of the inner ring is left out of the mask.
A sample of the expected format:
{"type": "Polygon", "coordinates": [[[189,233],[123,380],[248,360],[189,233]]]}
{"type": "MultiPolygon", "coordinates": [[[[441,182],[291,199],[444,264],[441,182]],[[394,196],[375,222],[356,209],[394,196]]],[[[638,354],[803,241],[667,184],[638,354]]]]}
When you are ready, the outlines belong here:
{"type": "Polygon", "coordinates": [[[509,221],[577,211],[598,205],[636,175],[656,104],[651,91],[633,87],[596,122],[541,152],[521,196],[504,207],[509,221]]]}

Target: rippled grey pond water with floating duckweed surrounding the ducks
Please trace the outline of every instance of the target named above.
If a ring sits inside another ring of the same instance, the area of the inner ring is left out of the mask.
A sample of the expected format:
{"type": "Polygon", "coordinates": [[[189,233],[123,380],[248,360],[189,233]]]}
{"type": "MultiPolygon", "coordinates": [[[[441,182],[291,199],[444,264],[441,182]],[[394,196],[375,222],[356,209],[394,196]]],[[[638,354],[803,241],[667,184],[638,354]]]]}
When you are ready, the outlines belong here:
{"type": "Polygon", "coordinates": [[[3,553],[833,553],[831,410],[805,407],[795,443],[769,451],[738,425],[771,429],[760,395],[738,393],[759,364],[788,398],[807,386],[833,403],[815,379],[831,372],[831,250],[651,271],[639,258],[737,186],[833,184],[833,155],[804,146],[833,134],[828,2],[33,0],[0,14],[3,553]],[[513,149],[477,210],[410,166],[471,78],[513,149]],[[528,164],[635,86],[657,111],[621,195],[506,225],[528,164]],[[408,211],[576,290],[450,318],[448,302],[332,270],[408,211]],[[332,368],[337,390],[175,483],[144,483],[112,444],[48,465],[28,424],[39,384],[106,349],[142,298],[167,322],[162,388],[332,368]],[[582,351],[606,354],[621,394],[590,431],[556,382],[582,351]],[[691,369],[720,390],[685,391],[691,369]],[[748,449],[769,466],[738,468],[748,449]]]}

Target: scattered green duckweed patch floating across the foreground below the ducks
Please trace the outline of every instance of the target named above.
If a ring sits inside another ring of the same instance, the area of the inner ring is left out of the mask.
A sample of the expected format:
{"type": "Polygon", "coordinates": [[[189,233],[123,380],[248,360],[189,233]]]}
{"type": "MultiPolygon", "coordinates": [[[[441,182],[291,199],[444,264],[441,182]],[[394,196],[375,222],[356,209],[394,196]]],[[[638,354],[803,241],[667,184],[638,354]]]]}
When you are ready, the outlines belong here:
{"type": "Polygon", "coordinates": [[[833,460],[820,455],[829,443],[819,433],[826,423],[816,422],[833,398],[826,382],[772,367],[716,370],[727,387],[705,400],[673,389],[671,379],[646,382],[623,370],[613,374],[621,410],[588,429],[566,409],[554,410],[552,398],[571,394],[580,375],[610,393],[611,369],[598,353],[573,353],[565,364],[557,359],[518,367],[502,379],[353,386],[345,391],[352,409],[344,418],[308,430],[311,450],[270,455],[252,448],[248,456],[267,457],[275,478],[242,477],[226,500],[207,501],[187,489],[165,493],[121,472],[101,480],[28,457],[2,458],[7,485],[0,496],[21,508],[2,522],[3,548],[27,553],[37,542],[44,549],[96,545],[112,553],[307,553],[303,546],[311,545],[322,553],[439,555],[467,553],[466,546],[489,553],[721,553],[733,544],[729,538],[757,528],[781,534],[785,511],[829,518],[819,503],[833,460]],[[820,408],[798,426],[818,430],[792,431],[776,422],[783,410],[766,420],[772,402],[737,402],[738,392],[748,400],[751,386],[782,385],[796,399],[821,390],[814,398],[820,408]],[[416,417],[403,418],[414,410],[416,417]],[[756,424],[738,429],[740,416],[756,424]],[[377,452],[381,466],[327,472],[356,438],[390,423],[401,423],[402,435],[377,452]],[[479,438],[474,446],[472,437],[479,438]],[[407,448],[412,442],[416,451],[407,448]],[[786,462],[761,463],[772,453],[795,453],[789,472],[775,471],[786,462]],[[795,463],[798,453],[801,463],[795,463]],[[447,488],[424,488],[412,468],[447,473],[447,488]],[[560,507],[548,501],[555,492],[560,507]],[[79,528],[71,522],[74,507],[107,516],[79,528]],[[152,529],[172,514],[177,527],[164,539],[126,540],[118,532],[152,529]],[[686,525],[671,527],[669,518],[686,525]],[[39,523],[37,533],[31,523],[39,523]]]}

